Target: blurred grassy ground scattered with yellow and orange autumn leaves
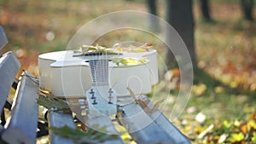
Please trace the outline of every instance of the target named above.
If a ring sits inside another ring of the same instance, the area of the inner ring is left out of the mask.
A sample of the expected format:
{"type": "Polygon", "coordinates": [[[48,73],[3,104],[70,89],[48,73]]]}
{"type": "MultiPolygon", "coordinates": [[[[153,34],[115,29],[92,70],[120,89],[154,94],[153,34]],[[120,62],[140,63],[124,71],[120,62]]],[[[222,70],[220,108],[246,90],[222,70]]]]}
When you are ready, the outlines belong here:
{"type": "MultiPolygon", "coordinates": [[[[256,143],[256,24],[242,19],[236,2],[211,2],[212,23],[204,22],[198,4],[194,5],[199,68],[188,106],[173,123],[194,143],[256,143]]],[[[163,18],[164,1],[158,4],[163,18]]],[[[73,34],[89,20],[127,9],[147,11],[143,0],[0,0],[0,25],[9,39],[1,52],[15,51],[22,68],[37,76],[39,54],[66,49],[73,34]]],[[[116,32],[98,43],[112,46],[129,38],[139,40],[134,37],[134,32],[116,32]]],[[[162,52],[158,41],[143,38],[162,52]]],[[[178,77],[177,68],[171,72],[178,77]]],[[[171,95],[175,101],[177,87],[171,95]]],[[[173,101],[167,101],[170,109],[173,101]]]]}

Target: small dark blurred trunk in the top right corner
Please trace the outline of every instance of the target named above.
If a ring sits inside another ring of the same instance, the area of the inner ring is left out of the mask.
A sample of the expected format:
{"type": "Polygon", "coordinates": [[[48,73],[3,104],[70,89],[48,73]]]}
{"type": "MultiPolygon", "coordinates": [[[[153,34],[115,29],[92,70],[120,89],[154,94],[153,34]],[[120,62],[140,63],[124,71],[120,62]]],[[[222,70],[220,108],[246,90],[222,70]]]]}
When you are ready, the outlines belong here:
{"type": "Polygon", "coordinates": [[[240,3],[245,19],[253,21],[253,0],[240,0],[240,3]]]}

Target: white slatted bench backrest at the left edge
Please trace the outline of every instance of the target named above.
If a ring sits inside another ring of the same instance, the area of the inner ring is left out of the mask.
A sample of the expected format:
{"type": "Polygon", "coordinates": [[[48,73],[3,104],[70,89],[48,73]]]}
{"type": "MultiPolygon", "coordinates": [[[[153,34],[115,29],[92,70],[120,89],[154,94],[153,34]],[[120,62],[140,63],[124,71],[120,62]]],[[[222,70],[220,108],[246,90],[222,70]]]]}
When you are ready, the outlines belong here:
{"type": "MultiPolygon", "coordinates": [[[[0,26],[0,49],[7,43],[3,27],[0,26]]],[[[9,90],[15,81],[20,62],[13,52],[0,55],[0,114],[9,96],[9,90]]],[[[36,143],[38,127],[38,82],[27,72],[20,77],[15,99],[11,107],[11,116],[0,127],[0,143],[36,143]]]]}

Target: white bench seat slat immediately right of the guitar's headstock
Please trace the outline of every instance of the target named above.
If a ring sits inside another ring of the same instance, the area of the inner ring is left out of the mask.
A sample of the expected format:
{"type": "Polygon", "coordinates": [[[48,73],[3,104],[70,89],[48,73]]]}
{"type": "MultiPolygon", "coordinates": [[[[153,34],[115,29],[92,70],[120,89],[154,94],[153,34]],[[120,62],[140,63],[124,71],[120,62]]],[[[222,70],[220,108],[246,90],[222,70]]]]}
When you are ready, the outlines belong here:
{"type": "Polygon", "coordinates": [[[131,103],[125,105],[123,110],[125,113],[119,118],[119,122],[137,143],[172,143],[172,138],[155,124],[139,105],[131,103]]]}

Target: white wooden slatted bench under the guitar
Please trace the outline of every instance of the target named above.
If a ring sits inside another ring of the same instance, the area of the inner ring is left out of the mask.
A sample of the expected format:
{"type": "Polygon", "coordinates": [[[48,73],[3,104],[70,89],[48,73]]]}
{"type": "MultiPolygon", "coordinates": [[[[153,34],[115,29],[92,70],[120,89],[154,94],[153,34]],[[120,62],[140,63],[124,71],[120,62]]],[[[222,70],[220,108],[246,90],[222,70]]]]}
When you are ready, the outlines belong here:
{"type": "MultiPolygon", "coordinates": [[[[7,43],[7,39],[0,26],[0,49],[7,43]]],[[[20,62],[17,60],[13,52],[7,52],[0,56],[0,143],[9,144],[34,144],[38,136],[48,135],[46,127],[61,128],[68,126],[71,129],[76,129],[76,118],[72,113],[55,112],[49,110],[45,113],[45,123],[38,119],[38,78],[32,76],[29,72],[22,72],[19,78],[15,78],[20,68],[20,62]],[[9,98],[9,90],[15,89],[15,98],[9,98]],[[5,121],[5,112],[3,108],[10,110],[10,117],[5,121]]],[[[148,105],[152,102],[147,96],[140,96],[141,101],[145,101],[148,105]]],[[[129,99],[129,98],[128,98],[129,99]]],[[[75,100],[74,100],[75,101],[75,100]]],[[[139,144],[155,144],[155,143],[174,143],[174,144],[189,144],[190,141],[177,128],[169,122],[169,120],[158,110],[146,112],[143,106],[137,102],[119,107],[119,114],[116,118],[107,116],[90,117],[84,116],[86,125],[98,124],[104,126],[108,130],[118,133],[116,124],[125,127],[134,141],[139,144]],[[152,120],[154,122],[148,124],[145,128],[140,128],[140,124],[136,123],[133,117],[130,117],[136,112],[140,112],[140,118],[152,120]]],[[[49,129],[49,140],[52,144],[73,144],[71,139],[55,135],[49,129]]],[[[125,143],[119,135],[113,139],[103,141],[104,144],[121,144],[125,143]]]]}

